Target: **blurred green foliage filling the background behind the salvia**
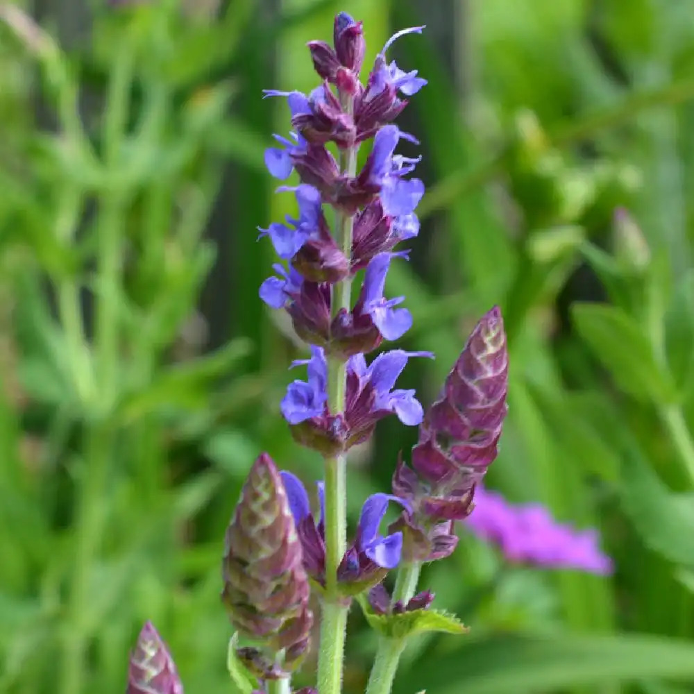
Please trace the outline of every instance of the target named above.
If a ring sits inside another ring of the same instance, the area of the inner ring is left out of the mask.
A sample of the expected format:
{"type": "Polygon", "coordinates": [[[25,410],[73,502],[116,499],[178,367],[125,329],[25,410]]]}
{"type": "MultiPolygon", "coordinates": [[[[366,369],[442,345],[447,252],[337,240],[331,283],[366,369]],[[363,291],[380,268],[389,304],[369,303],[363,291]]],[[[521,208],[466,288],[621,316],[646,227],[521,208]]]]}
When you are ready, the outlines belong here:
{"type": "MultiPolygon", "coordinates": [[[[1,693],[123,691],[148,618],[187,691],[233,691],[219,561],[239,486],[260,450],[320,475],[278,413],[296,343],[257,299],[255,228],[291,211],[262,165],[286,113],[260,90],[314,85],[304,44],[339,9],[369,56],[430,24],[396,51],[430,80],[403,121],[423,231],[389,291],[415,317],[403,346],[437,361],[405,382],[428,402],[500,303],[490,484],[598,527],[616,561],[609,579],[542,573],[463,536],[424,579],[472,635],[422,638],[396,692],[694,678],[691,4],[345,4],[94,2],[60,36],[78,1],[41,27],[0,3],[1,693]]],[[[384,422],[355,453],[352,516],[414,435],[384,422]]],[[[346,691],[373,647],[354,611],[346,691]]]]}

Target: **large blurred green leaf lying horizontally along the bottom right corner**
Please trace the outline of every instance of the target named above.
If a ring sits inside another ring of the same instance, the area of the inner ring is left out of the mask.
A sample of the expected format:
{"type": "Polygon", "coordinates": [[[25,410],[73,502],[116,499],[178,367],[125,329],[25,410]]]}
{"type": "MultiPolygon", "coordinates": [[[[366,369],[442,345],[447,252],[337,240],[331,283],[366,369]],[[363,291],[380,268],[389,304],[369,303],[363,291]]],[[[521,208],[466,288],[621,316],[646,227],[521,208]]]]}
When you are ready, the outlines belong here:
{"type": "Polygon", "coordinates": [[[522,694],[694,676],[694,645],[655,636],[500,634],[401,673],[393,694],[522,694]]]}

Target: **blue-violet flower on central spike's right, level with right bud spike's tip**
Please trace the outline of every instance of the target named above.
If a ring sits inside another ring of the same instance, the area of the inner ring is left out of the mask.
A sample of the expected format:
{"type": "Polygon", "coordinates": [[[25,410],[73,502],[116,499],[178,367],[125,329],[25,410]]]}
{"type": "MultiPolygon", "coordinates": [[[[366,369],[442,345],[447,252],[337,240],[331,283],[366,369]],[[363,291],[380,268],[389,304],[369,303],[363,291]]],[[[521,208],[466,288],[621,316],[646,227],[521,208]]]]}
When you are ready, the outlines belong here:
{"type": "Polygon", "coordinates": [[[393,253],[375,255],[364,274],[361,312],[369,314],[373,324],[387,340],[397,340],[412,328],[412,314],[405,308],[395,308],[405,300],[404,296],[387,300],[383,296],[386,275],[393,253]]]}

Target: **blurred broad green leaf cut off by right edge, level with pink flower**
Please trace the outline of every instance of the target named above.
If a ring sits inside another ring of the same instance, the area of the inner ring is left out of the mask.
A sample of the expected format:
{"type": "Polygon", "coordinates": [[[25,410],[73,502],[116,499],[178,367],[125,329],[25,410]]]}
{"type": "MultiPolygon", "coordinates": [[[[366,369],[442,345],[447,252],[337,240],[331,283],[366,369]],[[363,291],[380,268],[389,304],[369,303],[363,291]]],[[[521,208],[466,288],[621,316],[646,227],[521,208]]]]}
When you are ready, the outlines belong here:
{"type": "Polygon", "coordinates": [[[694,495],[669,491],[638,451],[625,456],[622,505],[645,545],[694,567],[694,495]]]}

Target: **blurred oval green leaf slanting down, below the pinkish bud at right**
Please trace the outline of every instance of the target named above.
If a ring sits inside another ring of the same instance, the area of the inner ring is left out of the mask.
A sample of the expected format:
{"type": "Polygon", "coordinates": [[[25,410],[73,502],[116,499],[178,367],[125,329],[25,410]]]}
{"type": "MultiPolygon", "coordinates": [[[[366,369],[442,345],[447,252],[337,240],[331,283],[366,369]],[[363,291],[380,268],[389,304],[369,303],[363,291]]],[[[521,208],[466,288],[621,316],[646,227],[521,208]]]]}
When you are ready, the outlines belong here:
{"type": "Polygon", "coordinates": [[[657,364],[648,339],[625,312],[602,304],[577,303],[572,314],[579,335],[623,391],[657,403],[677,399],[670,375],[657,364]]]}

